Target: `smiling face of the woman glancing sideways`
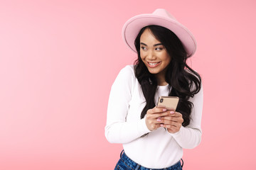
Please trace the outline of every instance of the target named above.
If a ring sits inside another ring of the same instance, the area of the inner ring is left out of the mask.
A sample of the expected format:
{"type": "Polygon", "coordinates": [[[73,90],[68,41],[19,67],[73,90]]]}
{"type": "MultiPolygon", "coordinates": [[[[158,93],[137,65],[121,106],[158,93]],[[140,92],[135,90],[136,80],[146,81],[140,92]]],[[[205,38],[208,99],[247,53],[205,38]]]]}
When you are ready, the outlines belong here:
{"type": "Polygon", "coordinates": [[[165,79],[171,57],[149,29],[144,30],[140,38],[140,55],[149,72],[155,74],[156,79],[165,79]]]}

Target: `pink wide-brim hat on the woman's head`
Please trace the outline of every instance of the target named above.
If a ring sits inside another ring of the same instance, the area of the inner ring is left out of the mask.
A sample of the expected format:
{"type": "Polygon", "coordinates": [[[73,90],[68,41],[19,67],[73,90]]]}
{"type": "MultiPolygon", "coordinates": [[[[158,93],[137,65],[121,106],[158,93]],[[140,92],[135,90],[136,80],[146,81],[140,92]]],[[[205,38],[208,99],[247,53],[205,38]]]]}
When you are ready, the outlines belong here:
{"type": "Polygon", "coordinates": [[[192,33],[183,26],[181,23],[178,23],[174,16],[166,11],[165,9],[158,8],[153,13],[141,14],[130,18],[122,28],[122,37],[124,42],[134,51],[137,52],[134,45],[134,40],[137,37],[139,31],[145,26],[162,26],[168,28],[183,43],[183,47],[187,52],[187,56],[191,57],[196,52],[196,40],[193,37],[192,33]]]}

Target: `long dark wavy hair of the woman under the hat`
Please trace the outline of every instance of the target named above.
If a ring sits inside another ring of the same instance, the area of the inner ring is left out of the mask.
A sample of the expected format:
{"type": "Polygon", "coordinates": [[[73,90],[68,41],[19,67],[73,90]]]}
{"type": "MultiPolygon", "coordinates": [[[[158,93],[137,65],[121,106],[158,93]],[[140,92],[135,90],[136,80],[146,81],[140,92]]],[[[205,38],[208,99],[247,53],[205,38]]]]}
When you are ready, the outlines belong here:
{"type": "Polygon", "coordinates": [[[134,45],[137,50],[138,59],[134,62],[135,76],[142,86],[142,92],[146,99],[146,106],[142,110],[141,118],[144,118],[146,111],[154,108],[154,96],[157,89],[157,80],[154,74],[151,74],[140,57],[140,38],[144,30],[149,29],[154,37],[159,40],[169,56],[171,62],[166,70],[165,79],[169,84],[169,96],[178,96],[180,98],[176,111],[183,115],[182,125],[186,127],[191,120],[191,109],[193,103],[188,101],[201,89],[201,77],[191,67],[186,64],[188,55],[184,49],[181,40],[169,29],[161,26],[146,26],[140,30],[134,45]]]}

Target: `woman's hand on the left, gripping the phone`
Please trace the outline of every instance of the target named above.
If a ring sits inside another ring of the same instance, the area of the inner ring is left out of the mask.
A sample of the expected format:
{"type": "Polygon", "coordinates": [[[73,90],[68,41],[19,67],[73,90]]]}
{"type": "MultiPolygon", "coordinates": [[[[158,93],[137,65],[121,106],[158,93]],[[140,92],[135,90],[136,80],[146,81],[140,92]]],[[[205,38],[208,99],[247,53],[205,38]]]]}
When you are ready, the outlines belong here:
{"type": "Polygon", "coordinates": [[[156,130],[157,128],[161,127],[161,117],[170,115],[170,111],[167,111],[166,108],[151,108],[146,111],[146,127],[149,130],[156,130]]]}

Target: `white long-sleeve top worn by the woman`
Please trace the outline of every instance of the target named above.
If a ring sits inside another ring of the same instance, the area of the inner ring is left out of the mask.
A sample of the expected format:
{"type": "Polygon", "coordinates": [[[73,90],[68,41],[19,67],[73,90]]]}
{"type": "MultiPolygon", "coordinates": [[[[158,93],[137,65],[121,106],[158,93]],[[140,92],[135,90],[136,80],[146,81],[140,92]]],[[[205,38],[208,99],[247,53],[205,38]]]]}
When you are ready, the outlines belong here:
{"type": "MultiPolygon", "coordinates": [[[[158,86],[155,103],[159,96],[168,96],[168,85],[158,86]]],[[[105,136],[111,143],[122,143],[124,152],[134,162],[151,169],[161,169],[176,164],[184,149],[192,149],[201,142],[201,116],[203,89],[190,100],[193,103],[191,122],[172,134],[164,128],[150,131],[145,118],[140,115],[146,100],[134,66],[124,67],[112,84],[107,108],[105,136]],[[149,133],[142,137],[142,135],[149,133]]]]}

